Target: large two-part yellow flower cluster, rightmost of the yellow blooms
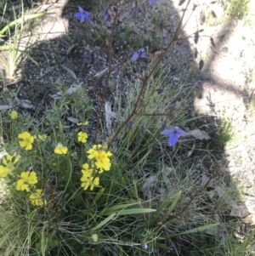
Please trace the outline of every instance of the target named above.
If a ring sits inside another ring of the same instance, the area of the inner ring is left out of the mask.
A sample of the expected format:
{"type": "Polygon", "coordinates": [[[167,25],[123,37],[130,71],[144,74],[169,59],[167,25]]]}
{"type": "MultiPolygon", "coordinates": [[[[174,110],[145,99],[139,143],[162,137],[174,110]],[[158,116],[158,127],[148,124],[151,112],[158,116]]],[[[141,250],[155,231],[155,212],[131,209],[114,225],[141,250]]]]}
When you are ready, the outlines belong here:
{"type": "Polygon", "coordinates": [[[88,159],[93,160],[91,168],[88,163],[82,165],[82,187],[84,191],[90,188],[94,190],[95,185],[99,185],[99,177],[97,174],[103,173],[103,171],[109,171],[111,168],[110,151],[107,150],[107,145],[94,145],[92,149],[87,151],[88,159]]]}

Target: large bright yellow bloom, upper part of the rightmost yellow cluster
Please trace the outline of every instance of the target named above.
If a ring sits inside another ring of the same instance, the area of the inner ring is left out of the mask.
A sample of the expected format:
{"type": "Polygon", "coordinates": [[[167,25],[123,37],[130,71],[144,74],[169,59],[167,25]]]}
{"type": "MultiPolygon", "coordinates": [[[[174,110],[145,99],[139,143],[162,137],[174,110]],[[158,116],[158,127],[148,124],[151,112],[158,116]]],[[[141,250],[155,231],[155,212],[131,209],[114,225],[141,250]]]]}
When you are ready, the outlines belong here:
{"type": "Polygon", "coordinates": [[[87,151],[88,159],[95,160],[95,166],[97,168],[104,169],[105,171],[109,171],[111,168],[110,156],[112,156],[110,151],[105,151],[106,145],[94,145],[92,149],[87,151]]]}

